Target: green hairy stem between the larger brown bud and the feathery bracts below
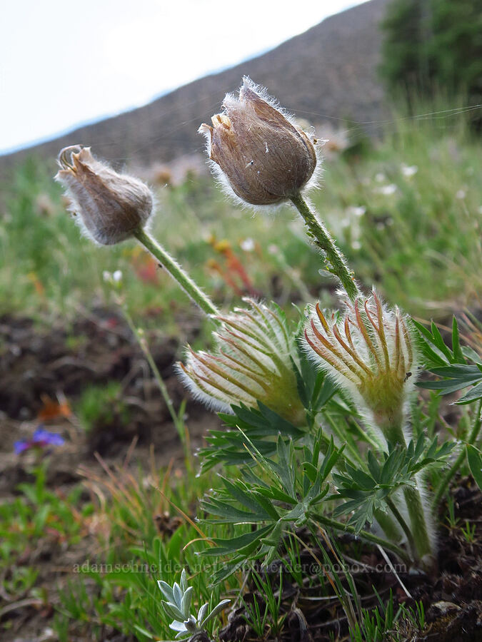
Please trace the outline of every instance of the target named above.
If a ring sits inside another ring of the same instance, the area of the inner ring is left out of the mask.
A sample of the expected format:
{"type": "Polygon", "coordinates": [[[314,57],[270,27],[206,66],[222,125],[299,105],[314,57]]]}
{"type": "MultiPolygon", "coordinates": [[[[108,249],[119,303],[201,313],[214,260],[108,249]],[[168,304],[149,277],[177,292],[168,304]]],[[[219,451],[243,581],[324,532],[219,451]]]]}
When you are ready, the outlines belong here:
{"type": "Polygon", "coordinates": [[[360,294],[360,291],[354,281],[353,272],[348,271],[343,254],[336,247],[325,225],[318,219],[316,214],[310,210],[306,200],[304,200],[300,193],[291,196],[291,202],[303,217],[308,228],[308,235],[313,238],[318,248],[321,248],[325,253],[326,260],[331,264],[329,268],[330,272],[338,277],[346,294],[354,301],[360,294]]]}

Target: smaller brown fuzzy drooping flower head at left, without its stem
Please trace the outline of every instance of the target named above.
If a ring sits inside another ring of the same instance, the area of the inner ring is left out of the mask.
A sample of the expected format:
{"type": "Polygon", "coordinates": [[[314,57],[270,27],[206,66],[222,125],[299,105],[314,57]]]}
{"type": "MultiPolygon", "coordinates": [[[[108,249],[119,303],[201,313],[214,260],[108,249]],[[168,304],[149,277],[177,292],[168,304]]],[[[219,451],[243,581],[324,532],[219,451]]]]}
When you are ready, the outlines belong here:
{"type": "Polygon", "coordinates": [[[82,230],[101,245],[114,245],[143,228],[154,208],[151,190],[137,178],[97,161],[89,147],[59,153],[56,180],[64,188],[82,230]]]}

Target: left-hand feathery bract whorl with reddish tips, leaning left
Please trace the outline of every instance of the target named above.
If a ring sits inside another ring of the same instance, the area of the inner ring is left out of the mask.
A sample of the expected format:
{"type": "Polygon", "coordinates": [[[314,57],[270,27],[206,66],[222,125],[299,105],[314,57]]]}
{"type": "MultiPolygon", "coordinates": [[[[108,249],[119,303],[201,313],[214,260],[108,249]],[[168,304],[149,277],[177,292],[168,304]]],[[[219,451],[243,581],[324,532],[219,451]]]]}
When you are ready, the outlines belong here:
{"type": "Polygon", "coordinates": [[[231,412],[231,404],[258,407],[257,400],[288,419],[304,424],[292,359],[296,345],[282,313],[246,299],[248,309],[236,308],[214,333],[214,353],[188,348],[186,365],[179,372],[194,396],[209,406],[231,412]]]}

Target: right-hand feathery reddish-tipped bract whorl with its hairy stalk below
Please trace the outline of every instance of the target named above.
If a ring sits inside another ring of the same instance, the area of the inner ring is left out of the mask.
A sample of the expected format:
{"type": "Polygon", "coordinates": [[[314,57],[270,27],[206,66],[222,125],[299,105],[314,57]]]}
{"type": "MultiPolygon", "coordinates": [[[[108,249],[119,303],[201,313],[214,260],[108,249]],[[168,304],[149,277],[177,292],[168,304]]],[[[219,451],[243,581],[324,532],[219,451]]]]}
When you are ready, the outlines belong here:
{"type": "MultiPolygon", "coordinates": [[[[342,317],[323,314],[319,305],[304,330],[304,347],[316,365],[356,403],[378,439],[407,445],[406,412],[413,392],[416,349],[400,310],[382,305],[373,290],[366,299],[346,302],[342,317]]],[[[418,479],[418,486],[421,480],[418,479]]],[[[426,564],[433,555],[429,511],[418,489],[405,486],[416,554],[426,564]]]]}

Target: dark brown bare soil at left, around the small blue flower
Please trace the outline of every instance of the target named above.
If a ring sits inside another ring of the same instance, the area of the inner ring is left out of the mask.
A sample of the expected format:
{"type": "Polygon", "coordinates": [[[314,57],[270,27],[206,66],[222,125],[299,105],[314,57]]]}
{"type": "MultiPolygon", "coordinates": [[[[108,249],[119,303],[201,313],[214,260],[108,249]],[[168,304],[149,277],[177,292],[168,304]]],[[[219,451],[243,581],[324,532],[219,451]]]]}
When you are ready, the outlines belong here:
{"type": "MultiPolygon", "coordinates": [[[[196,327],[187,321],[184,330],[188,340],[196,336],[196,327]]],[[[179,408],[186,397],[174,373],[174,362],[181,355],[179,340],[156,333],[149,337],[149,345],[179,408]]],[[[195,402],[188,402],[186,419],[193,450],[201,446],[209,427],[219,425],[213,414],[195,402]]],[[[50,328],[39,327],[29,318],[0,318],[0,501],[11,501],[18,495],[19,484],[34,481],[32,456],[16,455],[14,442],[31,439],[42,424],[65,439],[64,446],[49,454],[46,477],[48,489],[60,497],[84,479],[82,469],[107,477],[96,453],[112,469],[129,459],[128,470],[134,475],[139,474],[139,466],[147,474],[153,457],[156,469],[171,464],[175,473],[183,466],[184,449],[156,380],[117,312],[94,310],[69,327],[58,322],[50,328]],[[92,384],[102,387],[113,381],[121,386],[121,404],[109,404],[109,412],[100,414],[86,431],[75,412],[81,393],[92,384]]],[[[87,489],[83,491],[80,501],[91,499],[87,489]]],[[[96,545],[88,529],[74,546],[46,532],[20,561],[39,571],[37,585],[51,596],[59,583],[71,579],[73,565],[88,559],[96,545]]],[[[49,637],[53,609],[41,608],[39,599],[19,597],[3,588],[0,591],[1,624],[10,621],[1,640],[54,639],[49,637]]]]}

